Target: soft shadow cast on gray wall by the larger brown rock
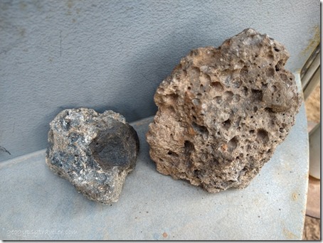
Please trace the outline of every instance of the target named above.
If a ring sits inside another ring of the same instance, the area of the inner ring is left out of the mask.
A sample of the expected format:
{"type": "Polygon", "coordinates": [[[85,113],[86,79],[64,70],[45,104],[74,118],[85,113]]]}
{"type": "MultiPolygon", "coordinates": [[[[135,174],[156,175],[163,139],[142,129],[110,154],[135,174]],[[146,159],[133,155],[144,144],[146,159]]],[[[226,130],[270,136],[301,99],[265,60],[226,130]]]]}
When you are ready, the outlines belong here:
{"type": "MultiPolygon", "coordinates": [[[[138,101],[130,104],[127,99],[120,104],[121,109],[116,107],[115,111],[123,114],[127,121],[136,121],[147,116],[152,116],[157,112],[154,104],[154,93],[159,84],[171,74],[181,58],[184,58],[192,49],[213,45],[218,47],[225,40],[213,40],[211,35],[201,26],[196,25],[198,21],[191,19],[186,28],[174,28],[170,33],[166,33],[154,45],[145,46],[134,55],[129,63],[125,63],[125,76],[129,77],[129,82],[134,83],[134,87],[145,87],[142,90],[129,90],[127,84],[120,89],[119,97],[132,95],[138,101]],[[191,33],[196,33],[192,36],[191,33]],[[139,60],[139,63],[138,61],[139,60]],[[129,67],[129,68],[127,68],[129,67]],[[138,109],[139,108],[139,109],[138,109]],[[136,112],[137,111],[137,112],[136,112]]],[[[229,37],[229,36],[228,36],[229,37]]],[[[97,107],[97,111],[103,112],[109,106],[97,107]]]]}

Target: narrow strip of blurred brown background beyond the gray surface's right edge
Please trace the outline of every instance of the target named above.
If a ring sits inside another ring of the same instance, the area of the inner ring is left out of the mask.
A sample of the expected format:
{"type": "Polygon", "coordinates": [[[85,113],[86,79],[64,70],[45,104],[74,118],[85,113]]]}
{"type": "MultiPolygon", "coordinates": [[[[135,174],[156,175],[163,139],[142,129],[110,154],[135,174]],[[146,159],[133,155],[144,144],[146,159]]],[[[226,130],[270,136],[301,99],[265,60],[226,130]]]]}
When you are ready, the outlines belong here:
{"type": "Polygon", "coordinates": [[[309,188],[303,239],[321,239],[321,53],[320,45],[314,50],[301,71],[302,88],[309,132],[309,188]]]}

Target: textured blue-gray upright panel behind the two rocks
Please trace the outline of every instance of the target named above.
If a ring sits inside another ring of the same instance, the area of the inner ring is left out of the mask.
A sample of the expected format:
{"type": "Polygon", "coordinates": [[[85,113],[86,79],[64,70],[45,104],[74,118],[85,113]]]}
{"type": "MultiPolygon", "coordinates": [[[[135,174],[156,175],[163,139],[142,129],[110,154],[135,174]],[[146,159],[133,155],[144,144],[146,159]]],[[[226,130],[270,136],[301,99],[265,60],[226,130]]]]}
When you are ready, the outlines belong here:
{"type": "Polygon", "coordinates": [[[192,48],[244,28],[284,43],[299,70],[319,1],[0,1],[0,161],[47,146],[66,108],[153,115],[154,92],[192,48]]]}

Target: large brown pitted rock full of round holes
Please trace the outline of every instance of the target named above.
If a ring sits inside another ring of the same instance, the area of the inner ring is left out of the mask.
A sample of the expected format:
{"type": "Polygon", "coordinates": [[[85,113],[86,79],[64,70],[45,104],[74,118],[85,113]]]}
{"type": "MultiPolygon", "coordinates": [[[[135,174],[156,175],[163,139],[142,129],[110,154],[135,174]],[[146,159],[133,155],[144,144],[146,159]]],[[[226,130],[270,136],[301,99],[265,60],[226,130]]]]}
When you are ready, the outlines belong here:
{"type": "Polygon", "coordinates": [[[245,188],[300,109],[285,47],[249,28],[192,50],[154,95],[147,141],[157,171],[210,193],[245,188]]]}

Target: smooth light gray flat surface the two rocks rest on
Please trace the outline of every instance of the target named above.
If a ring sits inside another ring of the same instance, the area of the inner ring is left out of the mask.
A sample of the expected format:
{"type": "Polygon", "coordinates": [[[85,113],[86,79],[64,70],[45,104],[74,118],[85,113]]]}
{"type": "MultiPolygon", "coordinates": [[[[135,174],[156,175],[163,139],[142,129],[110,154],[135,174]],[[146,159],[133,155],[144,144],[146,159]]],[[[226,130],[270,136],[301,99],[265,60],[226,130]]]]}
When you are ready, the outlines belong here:
{"type": "Polygon", "coordinates": [[[54,175],[45,151],[0,164],[1,239],[302,239],[308,140],[302,104],[287,139],[244,190],[210,194],[162,175],[141,150],[120,200],[102,205],[54,175]]]}

